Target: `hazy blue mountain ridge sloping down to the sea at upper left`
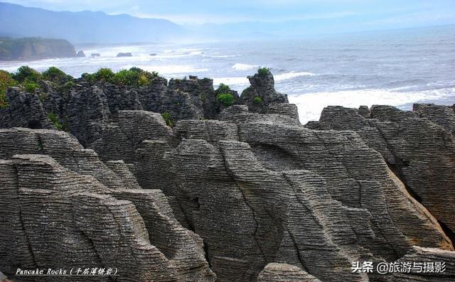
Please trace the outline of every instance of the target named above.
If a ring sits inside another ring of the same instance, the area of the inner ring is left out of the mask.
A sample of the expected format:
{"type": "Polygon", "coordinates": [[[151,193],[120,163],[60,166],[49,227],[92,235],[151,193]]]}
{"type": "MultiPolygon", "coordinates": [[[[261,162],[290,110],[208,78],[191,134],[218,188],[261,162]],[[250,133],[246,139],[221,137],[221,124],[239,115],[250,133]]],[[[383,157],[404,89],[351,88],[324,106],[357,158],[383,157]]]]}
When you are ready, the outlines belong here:
{"type": "Polygon", "coordinates": [[[111,16],[92,11],[48,11],[0,3],[0,35],[63,38],[71,43],[139,43],[173,40],[185,33],[159,18],[111,16]]]}

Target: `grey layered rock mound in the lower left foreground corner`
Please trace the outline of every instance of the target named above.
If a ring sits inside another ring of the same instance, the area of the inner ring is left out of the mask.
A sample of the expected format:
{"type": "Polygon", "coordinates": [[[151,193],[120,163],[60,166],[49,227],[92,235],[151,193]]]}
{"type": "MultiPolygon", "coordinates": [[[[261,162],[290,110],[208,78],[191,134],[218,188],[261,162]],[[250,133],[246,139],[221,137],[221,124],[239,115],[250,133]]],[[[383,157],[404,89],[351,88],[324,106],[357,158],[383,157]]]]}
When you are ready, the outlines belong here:
{"type": "Polygon", "coordinates": [[[10,278],[17,268],[96,267],[117,268],[116,281],[214,281],[200,237],[124,163],[110,170],[60,131],[2,129],[0,140],[0,269],[10,278]]]}

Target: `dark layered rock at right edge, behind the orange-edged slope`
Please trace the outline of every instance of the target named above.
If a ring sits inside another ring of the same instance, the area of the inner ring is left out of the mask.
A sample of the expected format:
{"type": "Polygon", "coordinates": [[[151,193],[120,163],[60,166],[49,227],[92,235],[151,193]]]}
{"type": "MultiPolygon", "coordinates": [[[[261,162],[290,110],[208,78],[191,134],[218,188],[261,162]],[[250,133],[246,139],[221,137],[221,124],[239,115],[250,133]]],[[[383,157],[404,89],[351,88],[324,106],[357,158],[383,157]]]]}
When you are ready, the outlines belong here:
{"type": "Polygon", "coordinates": [[[308,126],[356,131],[455,239],[454,109],[431,104],[414,109],[373,106],[365,116],[358,109],[327,107],[308,126]]]}

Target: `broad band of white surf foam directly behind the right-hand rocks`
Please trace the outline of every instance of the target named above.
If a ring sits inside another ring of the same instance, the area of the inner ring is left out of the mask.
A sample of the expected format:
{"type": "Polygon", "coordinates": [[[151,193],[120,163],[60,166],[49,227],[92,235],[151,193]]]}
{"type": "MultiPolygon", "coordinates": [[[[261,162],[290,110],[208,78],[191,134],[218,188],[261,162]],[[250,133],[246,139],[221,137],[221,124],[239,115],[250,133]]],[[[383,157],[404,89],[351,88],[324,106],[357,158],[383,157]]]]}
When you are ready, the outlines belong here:
{"type": "Polygon", "coordinates": [[[318,121],[322,109],[327,106],[358,108],[375,104],[400,106],[422,100],[440,99],[455,94],[455,88],[427,90],[422,92],[392,92],[387,90],[351,90],[339,92],[315,92],[301,95],[289,95],[289,103],[299,109],[300,122],[318,121]]]}

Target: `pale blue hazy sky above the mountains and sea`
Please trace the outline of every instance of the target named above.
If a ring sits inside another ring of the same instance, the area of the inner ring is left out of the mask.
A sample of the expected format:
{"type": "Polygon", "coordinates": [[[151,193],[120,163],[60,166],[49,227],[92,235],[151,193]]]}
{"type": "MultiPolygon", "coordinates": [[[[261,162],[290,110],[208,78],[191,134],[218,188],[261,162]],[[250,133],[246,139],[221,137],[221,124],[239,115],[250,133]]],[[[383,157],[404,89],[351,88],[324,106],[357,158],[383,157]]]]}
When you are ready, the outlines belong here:
{"type": "MultiPolygon", "coordinates": [[[[1,0],[0,0],[1,1],[1,0]]],[[[55,11],[105,11],[166,18],[183,26],[289,26],[315,32],[408,28],[455,23],[455,0],[6,0],[55,11]]]]}

